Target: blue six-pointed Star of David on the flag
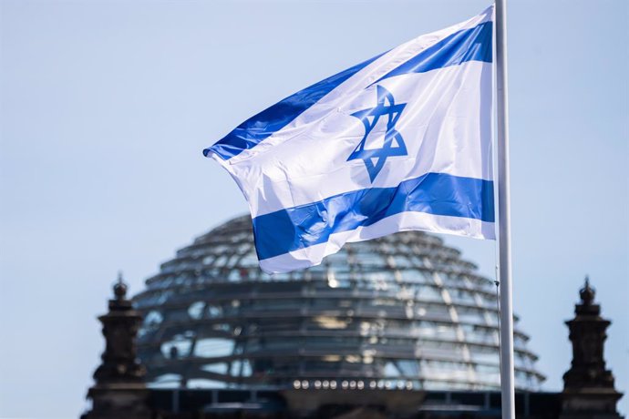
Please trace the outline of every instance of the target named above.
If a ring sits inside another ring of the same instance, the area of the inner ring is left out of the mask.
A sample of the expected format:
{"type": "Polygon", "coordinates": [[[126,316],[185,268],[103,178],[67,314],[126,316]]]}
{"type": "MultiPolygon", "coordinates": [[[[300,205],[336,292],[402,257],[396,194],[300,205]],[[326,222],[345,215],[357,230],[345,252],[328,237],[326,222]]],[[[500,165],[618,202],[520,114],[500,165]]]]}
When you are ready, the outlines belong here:
{"type": "Polygon", "coordinates": [[[404,138],[396,130],[397,119],[402,114],[406,103],[396,104],[391,92],[385,87],[376,86],[377,104],[376,107],[359,110],[351,114],[352,117],[360,119],[365,125],[365,137],[361,139],[356,149],[349,155],[347,161],[362,159],[365,162],[369,179],[374,182],[380,170],[384,168],[387,158],[394,156],[407,156],[407,145],[404,138]],[[367,138],[376,127],[380,117],[387,116],[387,132],[381,148],[365,148],[367,138]]]}

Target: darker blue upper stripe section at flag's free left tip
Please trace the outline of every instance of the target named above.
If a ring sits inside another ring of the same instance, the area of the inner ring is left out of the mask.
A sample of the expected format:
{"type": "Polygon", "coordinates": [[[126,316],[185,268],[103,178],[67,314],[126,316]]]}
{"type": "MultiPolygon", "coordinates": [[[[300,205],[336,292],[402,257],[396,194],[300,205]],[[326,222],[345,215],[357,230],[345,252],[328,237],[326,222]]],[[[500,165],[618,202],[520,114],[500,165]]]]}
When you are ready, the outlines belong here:
{"type": "Polygon", "coordinates": [[[346,69],[332,77],[315,83],[310,87],[300,90],[292,96],[267,107],[259,114],[242,122],[232,132],[216,142],[211,148],[205,148],[203,155],[206,157],[213,151],[225,160],[238,156],[243,150],[254,148],[265,138],[273,135],[297,118],[305,109],[312,107],[320,98],[334,90],[347,78],[354,76],[374,60],[382,56],[374,56],[356,66],[346,69]]]}

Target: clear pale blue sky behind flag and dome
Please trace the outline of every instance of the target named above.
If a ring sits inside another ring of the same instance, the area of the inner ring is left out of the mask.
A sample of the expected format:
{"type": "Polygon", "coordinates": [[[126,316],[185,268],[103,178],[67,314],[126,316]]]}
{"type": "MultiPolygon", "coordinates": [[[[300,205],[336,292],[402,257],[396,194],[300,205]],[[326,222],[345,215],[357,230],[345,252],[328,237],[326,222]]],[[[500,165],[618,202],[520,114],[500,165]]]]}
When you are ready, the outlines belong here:
{"type": "MultiPolygon", "coordinates": [[[[509,3],[514,311],[543,389],[560,391],[563,322],[590,275],[627,393],[629,4],[509,3]]],[[[246,212],[202,148],[487,5],[0,0],[0,417],[77,417],[117,272],[135,294],[176,249],[246,212]]],[[[493,242],[444,239],[493,275],[493,242]]]]}

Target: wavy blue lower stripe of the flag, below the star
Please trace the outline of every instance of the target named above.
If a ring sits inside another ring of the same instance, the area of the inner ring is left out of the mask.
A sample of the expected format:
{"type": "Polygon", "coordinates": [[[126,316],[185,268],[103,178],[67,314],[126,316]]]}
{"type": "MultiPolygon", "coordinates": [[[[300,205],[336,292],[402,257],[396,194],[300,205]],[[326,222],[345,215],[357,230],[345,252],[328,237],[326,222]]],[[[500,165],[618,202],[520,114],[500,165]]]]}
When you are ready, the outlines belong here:
{"type": "Polygon", "coordinates": [[[428,173],[394,188],[360,189],[264,214],[253,219],[258,258],[324,243],[330,234],[407,211],[493,222],[493,182],[428,173]]]}

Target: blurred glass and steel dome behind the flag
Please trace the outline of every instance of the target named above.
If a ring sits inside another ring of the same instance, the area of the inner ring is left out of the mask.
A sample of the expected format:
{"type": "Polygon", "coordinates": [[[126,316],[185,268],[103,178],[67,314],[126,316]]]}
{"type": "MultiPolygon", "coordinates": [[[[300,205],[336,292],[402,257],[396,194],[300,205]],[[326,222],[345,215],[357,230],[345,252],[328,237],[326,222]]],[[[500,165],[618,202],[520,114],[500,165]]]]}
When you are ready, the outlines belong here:
{"type": "MultiPolygon", "coordinates": [[[[495,286],[426,233],[268,275],[239,217],[146,283],[134,303],[153,387],[500,390],[495,286]]],[[[537,391],[544,377],[517,322],[514,339],[516,387],[537,391]]]]}

